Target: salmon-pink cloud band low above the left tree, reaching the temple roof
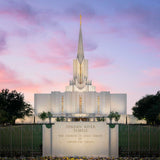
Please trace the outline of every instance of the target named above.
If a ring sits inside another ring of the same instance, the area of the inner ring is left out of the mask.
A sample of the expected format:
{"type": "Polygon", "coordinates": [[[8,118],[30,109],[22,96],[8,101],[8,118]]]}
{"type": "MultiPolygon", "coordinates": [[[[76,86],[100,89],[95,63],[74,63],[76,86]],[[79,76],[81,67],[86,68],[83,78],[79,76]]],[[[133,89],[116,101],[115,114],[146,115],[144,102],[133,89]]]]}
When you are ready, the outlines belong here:
{"type": "Polygon", "coordinates": [[[24,93],[27,102],[33,104],[34,93],[47,93],[53,90],[64,91],[67,83],[55,80],[41,78],[41,82],[33,83],[30,80],[20,79],[19,75],[14,71],[0,63],[0,90],[8,88],[9,90],[17,90],[24,93]],[[52,88],[51,88],[52,86],[52,88]]]}

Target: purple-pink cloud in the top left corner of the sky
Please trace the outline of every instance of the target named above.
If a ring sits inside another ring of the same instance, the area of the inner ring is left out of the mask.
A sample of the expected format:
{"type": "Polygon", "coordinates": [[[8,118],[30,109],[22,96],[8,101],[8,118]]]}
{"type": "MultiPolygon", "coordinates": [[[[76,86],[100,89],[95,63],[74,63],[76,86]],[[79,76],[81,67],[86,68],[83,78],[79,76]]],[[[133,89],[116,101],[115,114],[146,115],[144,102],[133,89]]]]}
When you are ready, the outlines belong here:
{"type": "Polygon", "coordinates": [[[38,10],[32,4],[25,1],[4,1],[0,6],[0,16],[7,17],[18,24],[37,25],[42,29],[42,25],[50,25],[56,27],[58,22],[53,21],[54,16],[58,16],[53,11],[38,10]]]}

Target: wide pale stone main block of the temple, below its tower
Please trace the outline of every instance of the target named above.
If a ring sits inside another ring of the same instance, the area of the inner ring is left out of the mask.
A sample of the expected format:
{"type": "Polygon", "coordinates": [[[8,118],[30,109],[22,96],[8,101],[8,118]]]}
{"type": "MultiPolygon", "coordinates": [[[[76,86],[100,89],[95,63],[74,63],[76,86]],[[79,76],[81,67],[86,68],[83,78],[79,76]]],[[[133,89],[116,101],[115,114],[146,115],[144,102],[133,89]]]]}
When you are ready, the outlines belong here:
{"type": "Polygon", "coordinates": [[[36,114],[43,111],[53,114],[109,114],[110,111],[126,114],[126,99],[126,94],[77,91],[35,94],[34,98],[36,114]]]}

